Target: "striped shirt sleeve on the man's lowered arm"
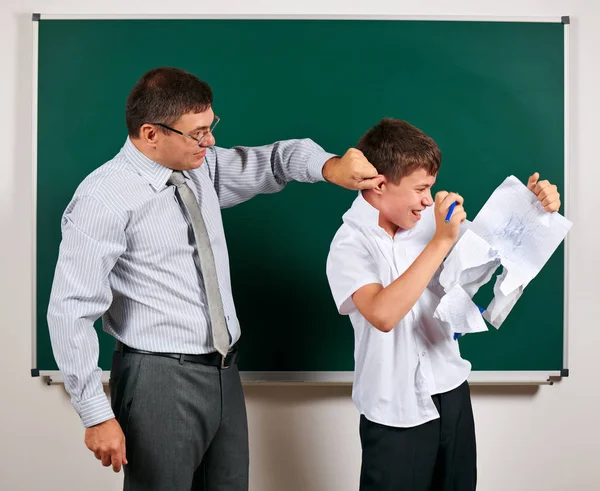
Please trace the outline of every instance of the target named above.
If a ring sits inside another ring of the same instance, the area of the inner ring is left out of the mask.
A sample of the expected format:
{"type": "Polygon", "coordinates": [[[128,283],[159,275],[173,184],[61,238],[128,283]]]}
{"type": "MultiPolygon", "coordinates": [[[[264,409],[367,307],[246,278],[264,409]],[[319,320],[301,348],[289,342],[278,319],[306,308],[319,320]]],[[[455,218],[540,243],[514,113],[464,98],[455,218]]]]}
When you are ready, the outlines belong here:
{"type": "Polygon", "coordinates": [[[94,198],[73,199],[62,218],[47,319],[56,363],[85,427],[114,417],[94,322],[112,302],[108,276],[125,249],[123,220],[94,198]]]}

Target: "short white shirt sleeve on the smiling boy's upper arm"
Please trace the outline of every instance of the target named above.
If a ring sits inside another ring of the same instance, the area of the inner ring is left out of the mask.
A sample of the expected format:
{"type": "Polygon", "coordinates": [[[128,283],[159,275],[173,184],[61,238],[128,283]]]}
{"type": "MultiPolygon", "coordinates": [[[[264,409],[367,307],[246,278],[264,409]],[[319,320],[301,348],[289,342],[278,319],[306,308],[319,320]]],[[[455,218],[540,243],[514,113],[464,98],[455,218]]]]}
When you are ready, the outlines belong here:
{"type": "Polygon", "coordinates": [[[338,231],[327,257],[327,280],[342,315],[356,310],[352,295],[365,285],[381,284],[377,263],[358,234],[345,229],[338,231]]]}

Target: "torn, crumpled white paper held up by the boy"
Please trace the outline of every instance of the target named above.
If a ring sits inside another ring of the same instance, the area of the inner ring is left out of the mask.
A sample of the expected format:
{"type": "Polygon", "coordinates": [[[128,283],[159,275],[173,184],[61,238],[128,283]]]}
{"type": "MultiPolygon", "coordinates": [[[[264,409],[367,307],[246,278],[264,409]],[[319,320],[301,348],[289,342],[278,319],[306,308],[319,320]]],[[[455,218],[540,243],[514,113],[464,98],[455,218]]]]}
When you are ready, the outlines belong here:
{"type": "Polygon", "coordinates": [[[471,298],[502,265],[494,298],[483,314],[499,328],[572,225],[559,213],[545,212],[535,194],[516,177],[507,177],[444,261],[439,281],[445,295],[434,317],[451,323],[455,332],[485,330],[481,315],[472,315],[479,308],[471,298]]]}

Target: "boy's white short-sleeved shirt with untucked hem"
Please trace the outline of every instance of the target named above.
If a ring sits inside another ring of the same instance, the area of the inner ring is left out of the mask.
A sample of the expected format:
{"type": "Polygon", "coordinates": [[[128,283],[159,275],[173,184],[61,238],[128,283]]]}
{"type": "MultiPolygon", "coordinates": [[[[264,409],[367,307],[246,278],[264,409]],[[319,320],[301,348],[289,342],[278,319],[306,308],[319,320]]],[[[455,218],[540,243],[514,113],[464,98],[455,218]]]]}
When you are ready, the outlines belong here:
{"type": "Polygon", "coordinates": [[[413,263],[435,233],[433,207],[423,210],[415,227],[392,238],[379,226],[379,211],[359,192],[343,222],[331,243],[327,278],[339,312],[354,327],[352,400],[367,419],[387,426],[436,419],[431,396],[458,387],[471,371],[454,333],[433,318],[443,295],[438,274],[388,333],[373,327],[352,301],[359,288],[370,283],[385,288],[413,263]]]}

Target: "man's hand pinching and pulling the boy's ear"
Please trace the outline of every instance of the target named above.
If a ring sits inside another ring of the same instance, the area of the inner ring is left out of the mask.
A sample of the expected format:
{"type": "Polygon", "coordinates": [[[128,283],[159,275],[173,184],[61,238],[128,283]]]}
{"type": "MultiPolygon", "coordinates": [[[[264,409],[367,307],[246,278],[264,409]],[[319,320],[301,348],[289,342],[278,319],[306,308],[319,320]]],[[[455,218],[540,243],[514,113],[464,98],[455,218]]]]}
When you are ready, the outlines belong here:
{"type": "Polygon", "coordinates": [[[325,162],[323,177],[343,188],[356,190],[373,189],[383,181],[383,176],[356,148],[350,148],[341,158],[333,157],[325,162]]]}

